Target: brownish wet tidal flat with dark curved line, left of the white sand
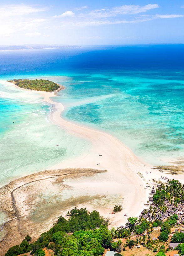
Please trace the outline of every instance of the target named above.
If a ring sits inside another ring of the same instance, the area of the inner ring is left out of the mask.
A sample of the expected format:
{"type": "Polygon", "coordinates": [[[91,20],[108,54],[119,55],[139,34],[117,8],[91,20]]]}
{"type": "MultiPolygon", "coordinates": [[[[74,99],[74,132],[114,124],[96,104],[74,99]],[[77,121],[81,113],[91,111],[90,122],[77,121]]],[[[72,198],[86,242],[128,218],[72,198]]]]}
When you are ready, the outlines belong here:
{"type": "Polygon", "coordinates": [[[104,172],[89,168],[45,170],[16,179],[0,188],[0,211],[7,216],[3,227],[5,236],[0,241],[0,256],[9,247],[21,243],[28,234],[33,241],[36,240],[53,226],[58,216],[65,216],[69,209],[102,198],[103,195],[96,194],[76,195],[62,200],[62,191],[72,189],[64,184],[64,180],[82,179],[104,172]]]}

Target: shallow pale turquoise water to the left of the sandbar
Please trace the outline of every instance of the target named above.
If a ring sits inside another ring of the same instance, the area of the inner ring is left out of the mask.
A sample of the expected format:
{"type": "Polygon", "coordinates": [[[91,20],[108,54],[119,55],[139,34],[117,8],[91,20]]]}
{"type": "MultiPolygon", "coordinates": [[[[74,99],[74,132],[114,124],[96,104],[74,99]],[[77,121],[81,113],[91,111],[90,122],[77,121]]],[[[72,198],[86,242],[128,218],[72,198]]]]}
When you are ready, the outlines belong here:
{"type": "Polygon", "coordinates": [[[50,121],[52,106],[39,95],[33,98],[3,84],[0,93],[0,185],[48,169],[85,148],[86,141],[50,121]]]}

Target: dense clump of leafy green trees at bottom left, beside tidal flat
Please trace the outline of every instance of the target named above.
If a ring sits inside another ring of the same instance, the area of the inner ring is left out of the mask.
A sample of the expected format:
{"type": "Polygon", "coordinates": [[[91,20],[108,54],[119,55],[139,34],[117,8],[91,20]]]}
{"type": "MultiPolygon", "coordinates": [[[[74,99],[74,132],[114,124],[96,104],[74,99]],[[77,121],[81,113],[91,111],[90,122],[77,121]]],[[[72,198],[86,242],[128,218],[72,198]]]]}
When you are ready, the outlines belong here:
{"type": "Polygon", "coordinates": [[[57,223],[48,232],[40,235],[36,242],[29,243],[27,236],[20,245],[9,248],[5,256],[17,256],[32,251],[34,256],[45,256],[43,248],[52,249],[58,256],[98,256],[104,248],[117,249],[118,243],[112,243],[111,232],[97,211],[88,213],[86,208],[73,209],[66,220],[60,216],[57,223]],[[73,234],[68,234],[68,233],[73,234]]]}

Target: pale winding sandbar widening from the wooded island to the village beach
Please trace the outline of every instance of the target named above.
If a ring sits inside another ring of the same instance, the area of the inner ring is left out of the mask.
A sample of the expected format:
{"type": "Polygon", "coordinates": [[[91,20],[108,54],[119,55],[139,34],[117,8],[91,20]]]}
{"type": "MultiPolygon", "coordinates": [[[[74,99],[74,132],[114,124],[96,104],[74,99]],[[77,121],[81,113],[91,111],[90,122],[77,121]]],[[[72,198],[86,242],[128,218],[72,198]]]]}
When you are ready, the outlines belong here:
{"type": "MultiPolygon", "coordinates": [[[[109,227],[125,225],[127,218],[139,216],[140,212],[145,208],[144,204],[147,203],[150,193],[150,189],[145,189],[146,185],[148,185],[148,183],[149,185],[154,183],[151,179],[162,181],[160,179],[161,173],[158,170],[151,169],[153,168],[152,166],[146,165],[139,160],[129,148],[112,135],[103,131],[94,130],[90,127],[75,124],[73,121],[70,122],[64,120],[61,117],[61,113],[64,110],[63,104],[54,102],[50,99],[50,97],[56,97],[55,92],[33,91],[19,88],[13,83],[5,81],[0,82],[25,90],[28,93],[41,94],[43,96],[43,101],[53,106],[50,119],[56,125],[59,125],[69,133],[82,137],[92,143],[90,153],[87,152],[80,157],[67,159],[56,164],[50,168],[51,173],[55,169],[61,168],[92,168],[107,170],[106,173],[99,173],[95,182],[92,182],[93,180],[90,178],[86,178],[84,183],[82,183],[80,177],[78,177],[78,179],[76,177],[74,178],[75,180],[71,178],[70,182],[65,180],[64,184],[66,186],[75,186],[75,183],[77,182],[79,189],[87,189],[87,187],[91,187],[97,195],[100,195],[103,189],[104,193],[106,193],[105,195],[108,195],[108,197],[111,196],[111,198],[113,198],[113,194],[118,194],[118,197],[114,197],[114,205],[122,203],[123,210],[121,212],[109,215],[113,210],[112,206],[107,206],[105,210],[102,209],[100,205],[97,205],[95,208],[99,211],[100,215],[110,218],[111,224],[109,227]],[[145,174],[146,172],[147,174],[145,174]],[[125,217],[124,214],[126,214],[127,217],[125,217]]],[[[164,176],[170,179],[171,177],[182,179],[180,175],[171,176],[170,174],[164,173],[164,176]]],[[[80,205],[80,207],[81,206],[86,207],[86,204],[84,203],[80,205]]],[[[87,205],[87,207],[89,207],[89,205],[87,205]]],[[[91,209],[94,209],[94,206],[92,206],[90,210],[91,209]]]]}

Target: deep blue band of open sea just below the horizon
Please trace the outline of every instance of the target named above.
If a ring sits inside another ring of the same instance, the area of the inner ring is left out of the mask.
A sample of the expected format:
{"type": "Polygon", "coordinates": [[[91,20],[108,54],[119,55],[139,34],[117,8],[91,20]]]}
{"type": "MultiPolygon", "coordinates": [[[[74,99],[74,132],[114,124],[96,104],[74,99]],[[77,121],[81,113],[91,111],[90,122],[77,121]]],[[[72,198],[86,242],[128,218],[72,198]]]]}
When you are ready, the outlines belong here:
{"type": "Polygon", "coordinates": [[[2,76],[66,74],[91,70],[183,71],[184,45],[96,46],[1,51],[2,76]]]}

